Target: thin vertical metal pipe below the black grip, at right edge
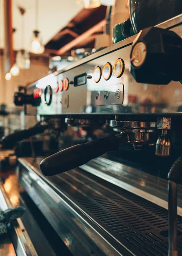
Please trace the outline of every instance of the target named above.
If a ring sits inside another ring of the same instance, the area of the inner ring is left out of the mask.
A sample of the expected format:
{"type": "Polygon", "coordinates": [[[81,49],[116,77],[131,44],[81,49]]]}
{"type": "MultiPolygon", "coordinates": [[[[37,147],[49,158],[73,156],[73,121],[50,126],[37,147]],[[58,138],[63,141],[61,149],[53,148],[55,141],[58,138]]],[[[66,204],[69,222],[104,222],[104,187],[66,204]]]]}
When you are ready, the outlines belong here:
{"type": "Polygon", "coordinates": [[[172,180],[168,180],[168,219],[169,219],[168,256],[178,256],[178,251],[177,251],[177,183],[172,180]]]}

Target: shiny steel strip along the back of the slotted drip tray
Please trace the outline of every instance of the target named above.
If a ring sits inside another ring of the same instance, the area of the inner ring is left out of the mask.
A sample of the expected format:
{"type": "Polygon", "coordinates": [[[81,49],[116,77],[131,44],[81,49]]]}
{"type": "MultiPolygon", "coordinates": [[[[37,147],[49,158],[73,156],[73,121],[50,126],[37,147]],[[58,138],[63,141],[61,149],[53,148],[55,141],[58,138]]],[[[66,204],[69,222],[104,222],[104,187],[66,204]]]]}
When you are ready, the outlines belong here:
{"type": "MultiPolygon", "coordinates": [[[[168,209],[167,180],[103,157],[80,168],[168,209]]],[[[178,215],[182,216],[182,185],[178,185],[178,215]]]]}

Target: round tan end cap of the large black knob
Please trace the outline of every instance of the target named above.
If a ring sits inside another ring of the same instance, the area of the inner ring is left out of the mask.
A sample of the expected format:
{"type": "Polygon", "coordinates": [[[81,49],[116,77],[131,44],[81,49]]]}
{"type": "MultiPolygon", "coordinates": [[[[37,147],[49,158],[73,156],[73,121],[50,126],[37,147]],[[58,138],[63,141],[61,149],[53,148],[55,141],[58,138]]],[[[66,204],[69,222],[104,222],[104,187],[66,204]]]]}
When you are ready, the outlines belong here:
{"type": "Polygon", "coordinates": [[[143,42],[137,43],[131,52],[131,62],[134,67],[140,67],[145,61],[147,47],[143,42]]]}

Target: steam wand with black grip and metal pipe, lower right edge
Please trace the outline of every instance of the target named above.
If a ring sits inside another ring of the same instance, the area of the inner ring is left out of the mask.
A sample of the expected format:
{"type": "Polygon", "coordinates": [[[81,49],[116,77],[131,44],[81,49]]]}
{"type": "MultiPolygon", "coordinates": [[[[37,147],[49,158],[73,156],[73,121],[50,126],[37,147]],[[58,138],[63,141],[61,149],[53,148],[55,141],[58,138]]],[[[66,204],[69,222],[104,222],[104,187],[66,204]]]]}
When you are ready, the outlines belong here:
{"type": "Polygon", "coordinates": [[[182,156],[179,157],[168,173],[168,218],[169,249],[168,256],[178,256],[177,250],[177,183],[182,181],[182,156]]]}

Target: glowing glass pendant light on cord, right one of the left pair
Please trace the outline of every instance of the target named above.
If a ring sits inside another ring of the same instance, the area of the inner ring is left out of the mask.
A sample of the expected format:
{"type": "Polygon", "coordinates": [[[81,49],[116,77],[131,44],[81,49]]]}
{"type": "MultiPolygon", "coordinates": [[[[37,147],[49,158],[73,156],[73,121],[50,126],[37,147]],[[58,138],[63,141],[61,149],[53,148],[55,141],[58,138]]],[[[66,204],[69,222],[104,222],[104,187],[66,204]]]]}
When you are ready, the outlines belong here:
{"type": "Polygon", "coordinates": [[[40,32],[37,30],[38,28],[38,15],[39,15],[39,2],[35,0],[35,26],[36,30],[33,31],[33,39],[31,42],[31,52],[35,54],[41,54],[44,52],[44,47],[42,44],[42,38],[40,37],[40,32]]]}

